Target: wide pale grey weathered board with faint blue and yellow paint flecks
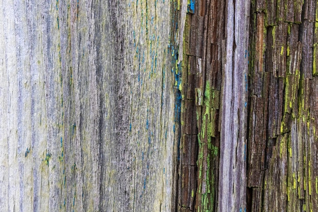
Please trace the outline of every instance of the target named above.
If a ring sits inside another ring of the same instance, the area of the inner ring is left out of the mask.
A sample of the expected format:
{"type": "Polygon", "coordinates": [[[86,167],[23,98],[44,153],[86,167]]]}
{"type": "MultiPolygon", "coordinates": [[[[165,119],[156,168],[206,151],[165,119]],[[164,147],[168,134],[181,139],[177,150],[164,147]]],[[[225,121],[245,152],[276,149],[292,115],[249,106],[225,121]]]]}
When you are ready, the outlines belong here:
{"type": "Polygon", "coordinates": [[[0,9],[1,210],[171,211],[170,1],[0,9]]]}

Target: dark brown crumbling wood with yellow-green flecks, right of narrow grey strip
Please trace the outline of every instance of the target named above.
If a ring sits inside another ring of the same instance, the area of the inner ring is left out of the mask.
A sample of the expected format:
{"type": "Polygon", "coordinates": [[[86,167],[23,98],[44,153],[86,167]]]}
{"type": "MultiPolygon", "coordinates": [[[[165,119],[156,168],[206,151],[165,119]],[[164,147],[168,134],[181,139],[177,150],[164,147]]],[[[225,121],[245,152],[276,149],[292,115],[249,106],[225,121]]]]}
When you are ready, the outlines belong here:
{"type": "Polygon", "coordinates": [[[317,2],[263,2],[251,9],[247,209],[317,211],[317,2]]]}

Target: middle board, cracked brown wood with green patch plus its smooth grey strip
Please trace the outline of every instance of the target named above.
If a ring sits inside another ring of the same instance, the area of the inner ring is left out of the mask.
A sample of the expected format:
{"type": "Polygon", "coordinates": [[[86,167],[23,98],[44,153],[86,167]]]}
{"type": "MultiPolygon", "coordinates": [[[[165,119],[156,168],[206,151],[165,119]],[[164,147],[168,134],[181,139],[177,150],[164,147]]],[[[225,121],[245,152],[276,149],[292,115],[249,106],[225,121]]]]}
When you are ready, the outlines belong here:
{"type": "Polygon", "coordinates": [[[186,171],[179,169],[179,211],[245,209],[248,17],[248,1],[195,1],[188,10],[180,146],[186,171]],[[187,161],[196,159],[195,178],[187,161]]]}

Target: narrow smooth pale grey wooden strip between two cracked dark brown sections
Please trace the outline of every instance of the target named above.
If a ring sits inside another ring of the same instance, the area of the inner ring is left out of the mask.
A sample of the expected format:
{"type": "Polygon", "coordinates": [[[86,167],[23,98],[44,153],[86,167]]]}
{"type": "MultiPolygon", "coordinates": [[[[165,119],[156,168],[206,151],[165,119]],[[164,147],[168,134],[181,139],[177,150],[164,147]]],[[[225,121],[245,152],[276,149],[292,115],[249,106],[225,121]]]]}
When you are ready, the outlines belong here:
{"type": "Polygon", "coordinates": [[[227,5],[226,65],[222,74],[218,211],[246,209],[246,156],[244,153],[247,97],[245,51],[248,43],[249,1],[227,5]],[[234,18],[235,16],[235,18],[234,18]],[[241,27],[246,26],[246,27],[241,27]]]}

